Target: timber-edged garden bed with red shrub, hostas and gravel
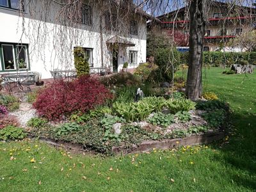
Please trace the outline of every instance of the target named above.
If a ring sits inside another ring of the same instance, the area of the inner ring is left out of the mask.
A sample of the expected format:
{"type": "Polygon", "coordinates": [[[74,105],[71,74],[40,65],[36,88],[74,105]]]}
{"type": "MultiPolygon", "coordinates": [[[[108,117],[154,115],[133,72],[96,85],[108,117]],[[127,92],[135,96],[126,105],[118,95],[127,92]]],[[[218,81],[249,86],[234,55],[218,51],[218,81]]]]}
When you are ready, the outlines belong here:
{"type": "Polygon", "coordinates": [[[152,96],[156,92],[140,87],[144,97],[134,100],[138,86],[108,90],[90,77],[59,81],[38,93],[33,103],[38,116],[27,122],[22,137],[21,129],[16,134],[11,126],[0,130],[0,140],[28,134],[56,146],[116,154],[179,147],[173,143],[178,141],[195,145],[223,136],[229,108],[214,93],[204,94],[208,101],[193,102],[184,93],[170,90],[164,97],[152,96]]]}

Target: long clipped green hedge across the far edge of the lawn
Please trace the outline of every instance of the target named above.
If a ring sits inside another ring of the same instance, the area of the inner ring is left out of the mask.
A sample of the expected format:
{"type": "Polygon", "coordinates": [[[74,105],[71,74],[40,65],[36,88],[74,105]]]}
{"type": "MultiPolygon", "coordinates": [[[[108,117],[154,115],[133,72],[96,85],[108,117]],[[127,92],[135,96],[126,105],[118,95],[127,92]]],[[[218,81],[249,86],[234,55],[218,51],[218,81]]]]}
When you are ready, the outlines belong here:
{"type": "MultiPolygon", "coordinates": [[[[180,54],[181,63],[188,64],[189,52],[180,54]]],[[[204,52],[204,65],[212,67],[230,67],[230,65],[239,63],[241,60],[248,61],[250,65],[256,65],[256,52],[217,52],[205,51],[204,52]]]]}

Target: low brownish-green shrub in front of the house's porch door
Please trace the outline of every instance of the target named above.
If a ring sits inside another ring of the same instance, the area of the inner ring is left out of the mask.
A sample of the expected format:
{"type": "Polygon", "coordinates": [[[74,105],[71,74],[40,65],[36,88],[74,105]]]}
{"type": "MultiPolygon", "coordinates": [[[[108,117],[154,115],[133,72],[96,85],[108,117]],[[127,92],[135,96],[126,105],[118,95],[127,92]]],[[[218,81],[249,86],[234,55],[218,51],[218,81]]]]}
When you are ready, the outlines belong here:
{"type": "Polygon", "coordinates": [[[138,77],[129,72],[119,72],[109,77],[102,77],[100,82],[105,86],[131,86],[140,83],[138,77]]]}

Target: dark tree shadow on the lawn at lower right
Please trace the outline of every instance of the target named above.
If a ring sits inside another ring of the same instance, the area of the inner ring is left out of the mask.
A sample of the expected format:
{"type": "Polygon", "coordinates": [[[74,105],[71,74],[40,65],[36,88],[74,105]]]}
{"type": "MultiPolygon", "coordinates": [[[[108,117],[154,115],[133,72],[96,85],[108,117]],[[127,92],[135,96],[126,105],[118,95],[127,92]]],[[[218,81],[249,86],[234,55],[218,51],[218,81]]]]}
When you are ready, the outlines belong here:
{"type": "Polygon", "coordinates": [[[234,130],[231,130],[230,140],[219,150],[216,161],[235,168],[229,170],[232,182],[248,189],[256,189],[256,115],[232,115],[234,130]],[[234,131],[234,133],[232,133],[234,131]],[[234,134],[234,136],[232,136],[234,134]]]}

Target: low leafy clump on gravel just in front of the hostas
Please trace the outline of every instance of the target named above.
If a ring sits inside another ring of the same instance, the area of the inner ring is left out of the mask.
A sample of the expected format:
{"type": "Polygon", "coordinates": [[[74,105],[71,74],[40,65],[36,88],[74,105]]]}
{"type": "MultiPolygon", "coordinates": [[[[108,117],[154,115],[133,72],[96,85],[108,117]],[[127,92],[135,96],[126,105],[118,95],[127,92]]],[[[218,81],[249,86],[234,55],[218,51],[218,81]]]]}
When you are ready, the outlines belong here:
{"type": "Polygon", "coordinates": [[[161,127],[168,127],[169,125],[174,123],[173,115],[171,114],[163,114],[161,112],[154,113],[154,116],[147,119],[147,122],[152,125],[159,125],[161,127]]]}

